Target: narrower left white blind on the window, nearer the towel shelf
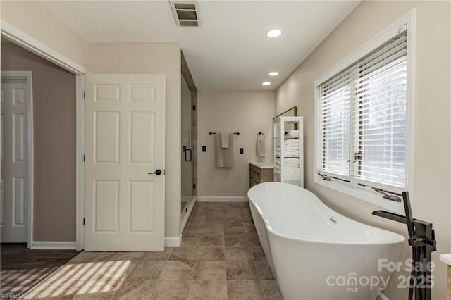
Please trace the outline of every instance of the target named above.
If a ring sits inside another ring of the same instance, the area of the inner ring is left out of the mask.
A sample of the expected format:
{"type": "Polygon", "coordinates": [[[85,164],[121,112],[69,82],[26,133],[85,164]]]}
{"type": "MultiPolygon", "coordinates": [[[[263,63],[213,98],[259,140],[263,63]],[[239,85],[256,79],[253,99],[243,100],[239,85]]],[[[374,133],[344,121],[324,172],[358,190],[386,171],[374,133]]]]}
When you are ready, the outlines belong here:
{"type": "Polygon", "coordinates": [[[347,68],[324,82],[321,87],[320,132],[318,170],[335,175],[349,175],[350,117],[352,81],[355,66],[347,68]]]}

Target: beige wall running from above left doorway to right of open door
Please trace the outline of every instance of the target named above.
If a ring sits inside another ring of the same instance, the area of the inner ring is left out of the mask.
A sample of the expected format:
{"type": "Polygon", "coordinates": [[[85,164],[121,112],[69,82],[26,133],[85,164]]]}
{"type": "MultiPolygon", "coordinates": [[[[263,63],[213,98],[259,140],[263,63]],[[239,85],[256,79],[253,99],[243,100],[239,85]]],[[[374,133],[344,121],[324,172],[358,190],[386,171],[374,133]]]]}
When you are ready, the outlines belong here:
{"type": "Polygon", "coordinates": [[[1,1],[1,19],[92,73],[166,75],[166,237],[178,237],[180,160],[171,158],[180,157],[180,46],[89,44],[37,1],[1,1]]]}

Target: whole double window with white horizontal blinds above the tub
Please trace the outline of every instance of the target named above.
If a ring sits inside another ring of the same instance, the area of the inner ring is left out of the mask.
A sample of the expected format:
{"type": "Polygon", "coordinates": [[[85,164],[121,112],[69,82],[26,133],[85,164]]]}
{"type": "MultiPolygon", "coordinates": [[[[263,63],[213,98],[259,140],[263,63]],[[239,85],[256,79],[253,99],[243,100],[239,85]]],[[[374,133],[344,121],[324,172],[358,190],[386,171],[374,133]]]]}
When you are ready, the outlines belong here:
{"type": "Polygon", "coordinates": [[[407,31],[319,84],[316,169],[400,192],[407,185],[407,31]]]}

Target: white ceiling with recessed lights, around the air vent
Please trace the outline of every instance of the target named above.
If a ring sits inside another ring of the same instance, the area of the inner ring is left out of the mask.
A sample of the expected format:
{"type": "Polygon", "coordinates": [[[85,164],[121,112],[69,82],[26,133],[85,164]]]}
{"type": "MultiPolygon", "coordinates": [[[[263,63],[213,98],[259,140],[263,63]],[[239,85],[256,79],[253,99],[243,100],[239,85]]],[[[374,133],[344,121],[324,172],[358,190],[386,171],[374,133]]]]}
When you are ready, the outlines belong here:
{"type": "Polygon", "coordinates": [[[179,43],[197,89],[273,90],[359,1],[199,0],[202,27],[178,27],[168,0],[42,4],[87,42],[179,43]]]}

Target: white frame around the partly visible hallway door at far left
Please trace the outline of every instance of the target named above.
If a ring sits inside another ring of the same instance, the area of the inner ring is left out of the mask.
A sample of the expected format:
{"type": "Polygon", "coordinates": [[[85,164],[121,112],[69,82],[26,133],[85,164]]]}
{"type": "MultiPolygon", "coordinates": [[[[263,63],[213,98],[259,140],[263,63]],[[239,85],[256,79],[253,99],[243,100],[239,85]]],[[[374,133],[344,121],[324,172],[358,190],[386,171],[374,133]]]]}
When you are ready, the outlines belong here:
{"type": "Polygon", "coordinates": [[[33,80],[31,71],[1,71],[1,79],[27,81],[27,247],[31,248],[33,236],[33,80]]]}

